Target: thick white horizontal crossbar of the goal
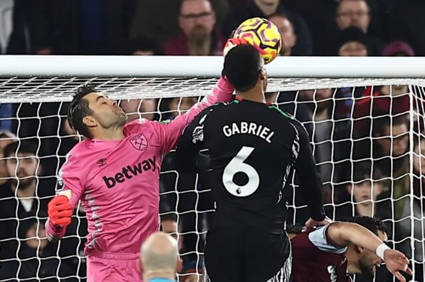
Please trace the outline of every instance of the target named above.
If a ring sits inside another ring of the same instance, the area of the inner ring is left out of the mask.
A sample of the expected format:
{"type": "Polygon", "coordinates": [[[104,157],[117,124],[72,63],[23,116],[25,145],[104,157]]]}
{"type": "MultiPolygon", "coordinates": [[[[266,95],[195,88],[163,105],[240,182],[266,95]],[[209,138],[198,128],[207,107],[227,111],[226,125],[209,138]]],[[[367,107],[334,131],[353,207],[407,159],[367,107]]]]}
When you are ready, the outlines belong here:
{"type": "MultiPolygon", "coordinates": [[[[2,55],[0,76],[219,77],[223,61],[222,56],[2,55]]],[[[266,68],[279,78],[424,78],[425,57],[279,56],[266,68]]]]}

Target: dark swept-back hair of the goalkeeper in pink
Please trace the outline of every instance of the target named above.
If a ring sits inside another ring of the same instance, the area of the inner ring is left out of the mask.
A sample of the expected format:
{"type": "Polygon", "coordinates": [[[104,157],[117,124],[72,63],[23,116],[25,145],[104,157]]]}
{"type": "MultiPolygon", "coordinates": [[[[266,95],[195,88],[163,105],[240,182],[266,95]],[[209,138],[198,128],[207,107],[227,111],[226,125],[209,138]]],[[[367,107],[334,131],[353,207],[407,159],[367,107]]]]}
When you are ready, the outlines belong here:
{"type": "Polygon", "coordinates": [[[91,138],[91,135],[83,122],[83,118],[93,114],[93,111],[89,107],[89,101],[84,99],[84,96],[93,92],[97,92],[96,86],[93,84],[84,84],[78,87],[68,107],[69,126],[88,138],[91,138]]]}

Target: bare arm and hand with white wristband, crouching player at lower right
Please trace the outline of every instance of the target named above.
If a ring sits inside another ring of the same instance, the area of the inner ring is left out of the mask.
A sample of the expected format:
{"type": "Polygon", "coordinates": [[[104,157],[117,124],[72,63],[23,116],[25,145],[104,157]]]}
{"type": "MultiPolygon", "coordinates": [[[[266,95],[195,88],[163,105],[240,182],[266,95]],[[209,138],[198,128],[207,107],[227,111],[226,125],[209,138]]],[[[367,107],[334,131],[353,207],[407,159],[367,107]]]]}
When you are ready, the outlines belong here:
{"type": "MultiPolygon", "coordinates": [[[[383,236],[386,237],[386,234],[383,234],[383,236]]],[[[332,223],[326,229],[326,238],[334,246],[344,247],[354,244],[376,253],[382,261],[385,261],[385,265],[391,274],[400,281],[405,281],[405,279],[398,271],[412,275],[412,271],[407,267],[408,259],[403,253],[389,248],[377,235],[357,223],[332,223]]]]}

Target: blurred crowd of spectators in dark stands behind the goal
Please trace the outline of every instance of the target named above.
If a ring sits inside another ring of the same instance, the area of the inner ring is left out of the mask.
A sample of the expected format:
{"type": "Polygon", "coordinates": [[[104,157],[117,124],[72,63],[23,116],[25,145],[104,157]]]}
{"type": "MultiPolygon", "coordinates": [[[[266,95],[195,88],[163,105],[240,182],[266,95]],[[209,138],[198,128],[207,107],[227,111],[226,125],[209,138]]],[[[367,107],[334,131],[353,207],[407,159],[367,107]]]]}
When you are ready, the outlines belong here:
{"type": "MultiPolygon", "coordinates": [[[[279,27],[283,56],[414,56],[425,54],[423,10],[422,0],[2,0],[0,46],[6,54],[221,55],[240,22],[263,16],[279,27]]],[[[417,280],[425,247],[423,94],[409,85],[267,93],[309,132],[327,215],[386,220],[394,246],[414,258],[417,280]]],[[[133,99],[120,106],[129,121],[165,120],[198,99],[133,99]]],[[[0,279],[86,276],[82,208],[60,243],[48,242],[44,230],[56,175],[81,139],[66,110],[67,103],[0,104],[0,279]]],[[[178,240],[180,279],[196,281],[214,210],[209,175],[177,175],[173,152],[162,171],[161,228],[178,240]]],[[[285,190],[288,221],[304,223],[308,191],[285,190]]],[[[385,271],[377,281],[389,280],[385,271]]]]}

